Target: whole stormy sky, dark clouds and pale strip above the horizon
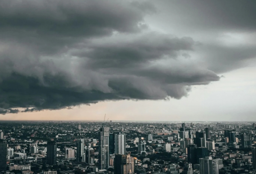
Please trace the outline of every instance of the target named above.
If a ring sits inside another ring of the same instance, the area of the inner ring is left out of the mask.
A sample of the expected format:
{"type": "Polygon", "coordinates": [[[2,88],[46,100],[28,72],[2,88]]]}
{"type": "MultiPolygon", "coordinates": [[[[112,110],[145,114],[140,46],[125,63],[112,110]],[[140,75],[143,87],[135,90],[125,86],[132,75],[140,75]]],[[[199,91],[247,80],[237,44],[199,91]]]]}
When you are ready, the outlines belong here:
{"type": "Polygon", "coordinates": [[[254,0],[0,2],[0,120],[256,121],[254,0]]]}

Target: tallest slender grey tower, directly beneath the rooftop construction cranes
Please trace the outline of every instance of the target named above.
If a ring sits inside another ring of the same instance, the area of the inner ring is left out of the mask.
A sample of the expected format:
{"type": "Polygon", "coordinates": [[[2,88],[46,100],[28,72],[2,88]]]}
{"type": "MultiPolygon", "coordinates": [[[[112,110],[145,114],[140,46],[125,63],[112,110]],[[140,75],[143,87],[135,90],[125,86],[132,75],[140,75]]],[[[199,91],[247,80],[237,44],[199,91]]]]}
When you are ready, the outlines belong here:
{"type": "Polygon", "coordinates": [[[99,130],[99,170],[109,168],[109,127],[99,130]]]}

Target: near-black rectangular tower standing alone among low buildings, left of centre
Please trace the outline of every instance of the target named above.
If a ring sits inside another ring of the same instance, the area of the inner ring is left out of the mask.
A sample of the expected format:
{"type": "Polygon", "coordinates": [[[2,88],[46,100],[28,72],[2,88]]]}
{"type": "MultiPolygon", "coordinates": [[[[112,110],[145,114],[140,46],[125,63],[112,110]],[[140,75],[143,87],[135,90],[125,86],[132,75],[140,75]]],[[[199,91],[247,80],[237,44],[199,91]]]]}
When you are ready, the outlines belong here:
{"type": "Polygon", "coordinates": [[[57,143],[55,141],[47,142],[47,164],[57,165],[57,143]]]}

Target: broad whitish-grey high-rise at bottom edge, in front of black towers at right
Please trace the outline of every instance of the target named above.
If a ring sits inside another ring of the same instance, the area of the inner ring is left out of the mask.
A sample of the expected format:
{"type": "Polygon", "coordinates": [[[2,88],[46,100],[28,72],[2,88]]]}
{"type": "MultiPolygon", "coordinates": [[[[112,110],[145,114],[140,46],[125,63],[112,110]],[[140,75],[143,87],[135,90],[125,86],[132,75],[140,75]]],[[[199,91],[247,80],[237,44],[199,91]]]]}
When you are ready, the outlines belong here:
{"type": "Polygon", "coordinates": [[[200,174],[219,174],[219,159],[212,159],[211,156],[200,158],[200,174]]]}

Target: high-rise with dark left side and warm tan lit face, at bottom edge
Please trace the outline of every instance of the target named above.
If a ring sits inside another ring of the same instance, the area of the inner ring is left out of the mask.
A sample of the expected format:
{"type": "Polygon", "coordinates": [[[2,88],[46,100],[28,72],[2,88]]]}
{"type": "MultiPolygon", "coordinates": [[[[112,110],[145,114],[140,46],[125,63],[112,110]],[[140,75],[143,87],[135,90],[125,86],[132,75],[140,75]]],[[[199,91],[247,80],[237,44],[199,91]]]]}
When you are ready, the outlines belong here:
{"type": "Polygon", "coordinates": [[[114,174],[134,173],[134,157],[128,155],[115,155],[114,174]]]}

